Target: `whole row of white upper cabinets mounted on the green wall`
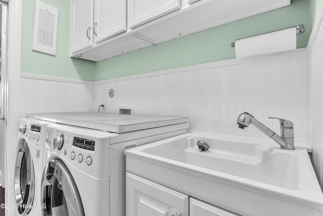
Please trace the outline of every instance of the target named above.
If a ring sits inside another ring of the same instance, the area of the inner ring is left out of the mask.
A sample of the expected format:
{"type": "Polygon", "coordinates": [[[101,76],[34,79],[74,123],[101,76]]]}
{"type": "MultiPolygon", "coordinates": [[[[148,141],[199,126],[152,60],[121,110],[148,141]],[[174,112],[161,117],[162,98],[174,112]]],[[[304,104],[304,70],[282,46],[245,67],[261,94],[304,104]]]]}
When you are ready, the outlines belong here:
{"type": "Polygon", "coordinates": [[[291,0],[70,1],[71,56],[100,61],[286,7],[291,0]]]}

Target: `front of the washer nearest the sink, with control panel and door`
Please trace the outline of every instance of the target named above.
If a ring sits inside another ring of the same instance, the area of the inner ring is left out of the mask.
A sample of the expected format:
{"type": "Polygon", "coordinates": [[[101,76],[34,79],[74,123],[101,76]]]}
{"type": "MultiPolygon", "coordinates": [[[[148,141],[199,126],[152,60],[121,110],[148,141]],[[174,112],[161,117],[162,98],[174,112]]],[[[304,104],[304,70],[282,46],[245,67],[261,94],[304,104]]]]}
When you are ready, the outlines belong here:
{"type": "Polygon", "coordinates": [[[109,206],[109,143],[113,134],[48,125],[41,183],[43,215],[105,215],[109,206]]]}

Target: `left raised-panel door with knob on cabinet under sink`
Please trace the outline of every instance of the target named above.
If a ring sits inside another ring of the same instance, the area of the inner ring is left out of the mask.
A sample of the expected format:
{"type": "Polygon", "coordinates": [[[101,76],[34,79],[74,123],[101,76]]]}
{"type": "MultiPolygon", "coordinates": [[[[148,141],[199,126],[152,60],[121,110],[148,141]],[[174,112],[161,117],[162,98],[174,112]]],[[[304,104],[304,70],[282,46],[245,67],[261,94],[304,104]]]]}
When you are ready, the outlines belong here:
{"type": "Polygon", "coordinates": [[[189,196],[126,172],[126,215],[188,216],[189,196]]]}

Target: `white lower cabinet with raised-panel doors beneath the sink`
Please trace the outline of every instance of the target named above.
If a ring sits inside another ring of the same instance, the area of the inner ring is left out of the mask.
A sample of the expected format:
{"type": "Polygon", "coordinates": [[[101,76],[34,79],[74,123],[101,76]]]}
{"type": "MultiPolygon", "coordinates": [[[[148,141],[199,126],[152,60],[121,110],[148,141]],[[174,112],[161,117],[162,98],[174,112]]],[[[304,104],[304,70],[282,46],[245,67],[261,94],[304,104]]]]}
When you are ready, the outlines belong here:
{"type": "Polygon", "coordinates": [[[126,172],[127,216],[236,216],[238,214],[126,172]]]}

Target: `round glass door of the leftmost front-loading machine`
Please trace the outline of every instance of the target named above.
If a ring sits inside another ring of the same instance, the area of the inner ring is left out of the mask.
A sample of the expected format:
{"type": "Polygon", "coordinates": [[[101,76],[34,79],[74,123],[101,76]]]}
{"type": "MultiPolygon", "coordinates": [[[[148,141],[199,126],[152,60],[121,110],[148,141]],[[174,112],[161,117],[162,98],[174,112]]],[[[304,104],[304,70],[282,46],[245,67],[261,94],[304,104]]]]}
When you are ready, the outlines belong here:
{"type": "Polygon", "coordinates": [[[20,214],[28,214],[35,196],[35,172],[27,142],[19,140],[15,166],[15,197],[20,214]]]}

